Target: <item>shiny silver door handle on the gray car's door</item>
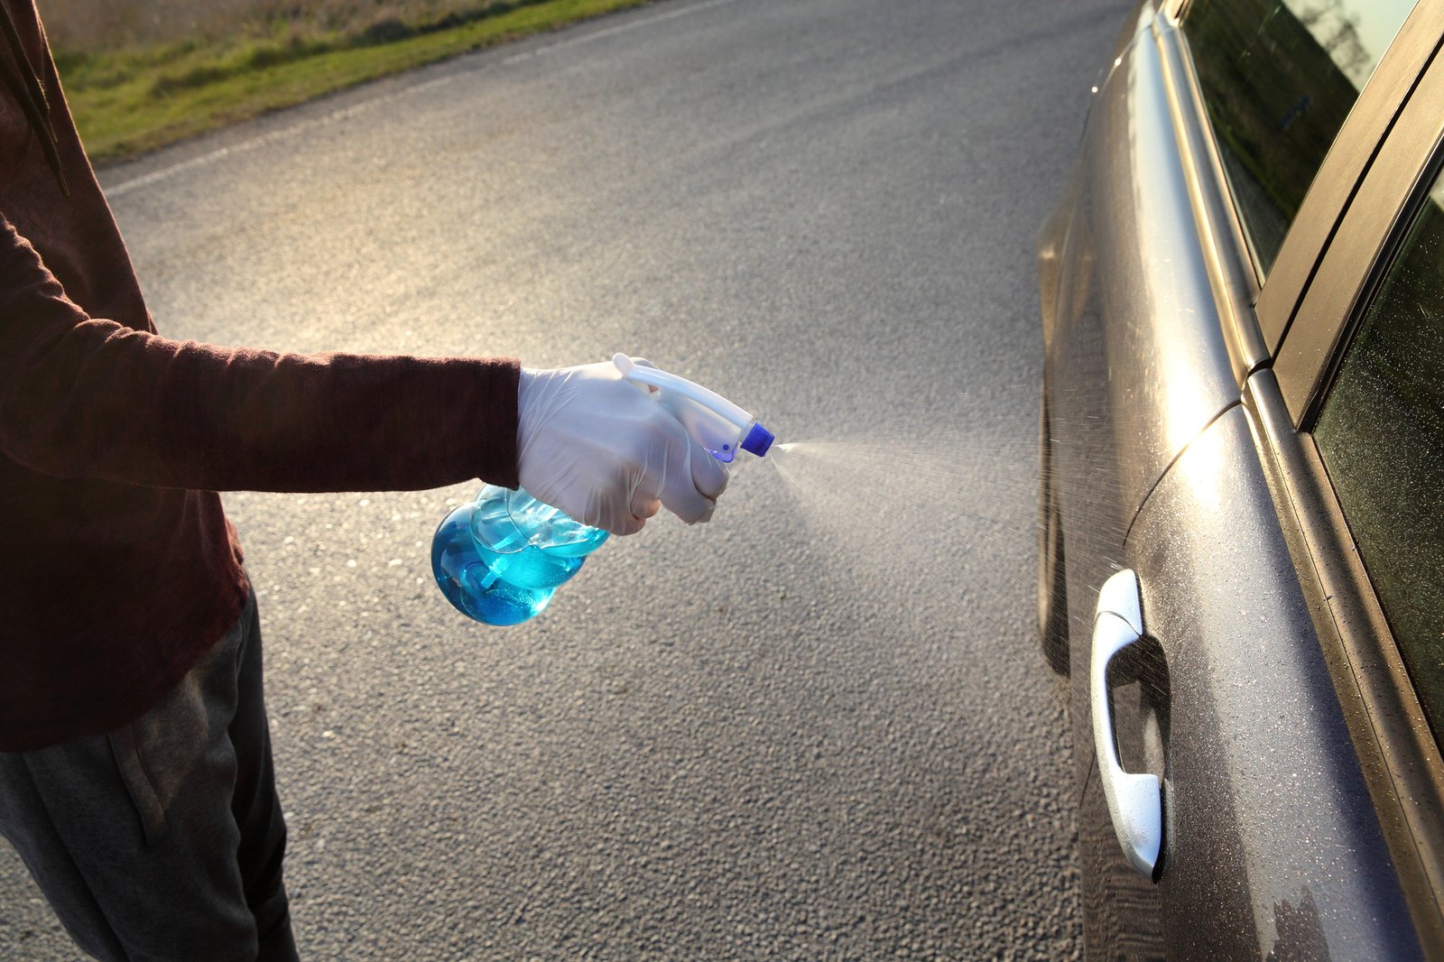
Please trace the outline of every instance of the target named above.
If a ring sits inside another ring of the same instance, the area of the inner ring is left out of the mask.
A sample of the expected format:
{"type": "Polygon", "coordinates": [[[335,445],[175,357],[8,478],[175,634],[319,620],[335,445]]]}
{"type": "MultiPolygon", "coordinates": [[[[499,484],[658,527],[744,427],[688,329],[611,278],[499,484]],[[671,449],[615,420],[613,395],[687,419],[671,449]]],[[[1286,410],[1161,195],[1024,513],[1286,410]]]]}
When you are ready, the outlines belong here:
{"type": "Polygon", "coordinates": [[[1148,878],[1154,877],[1164,839],[1164,799],[1158,776],[1123,771],[1113,742],[1113,712],[1108,699],[1108,664],[1113,656],[1144,636],[1138,575],[1129,569],[1115,573],[1097,595],[1093,620],[1093,659],[1090,692],[1093,748],[1097,774],[1103,780],[1108,813],[1128,862],[1148,878]]]}

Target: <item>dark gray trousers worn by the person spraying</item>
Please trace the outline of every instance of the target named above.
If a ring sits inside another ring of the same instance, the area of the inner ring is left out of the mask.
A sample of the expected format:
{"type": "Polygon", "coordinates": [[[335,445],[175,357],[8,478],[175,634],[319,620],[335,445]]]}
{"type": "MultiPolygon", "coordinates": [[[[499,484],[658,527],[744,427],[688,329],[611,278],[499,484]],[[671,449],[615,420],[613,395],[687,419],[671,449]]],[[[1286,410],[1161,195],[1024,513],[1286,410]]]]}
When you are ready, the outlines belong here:
{"type": "Polygon", "coordinates": [[[0,833],[98,959],[296,959],[256,597],[140,719],[0,753],[0,833]]]}

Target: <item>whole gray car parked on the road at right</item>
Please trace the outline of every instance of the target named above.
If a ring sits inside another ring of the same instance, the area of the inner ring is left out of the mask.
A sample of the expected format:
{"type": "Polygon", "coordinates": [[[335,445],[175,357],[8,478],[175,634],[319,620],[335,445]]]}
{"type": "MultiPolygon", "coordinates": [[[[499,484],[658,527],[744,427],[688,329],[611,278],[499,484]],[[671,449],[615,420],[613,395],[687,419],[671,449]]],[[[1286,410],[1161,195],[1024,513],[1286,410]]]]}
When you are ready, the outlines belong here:
{"type": "Polygon", "coordinates": [[[1444,3],[1147,0],[1038,234],[1089,958],[1444,958],[1444,3]]]}

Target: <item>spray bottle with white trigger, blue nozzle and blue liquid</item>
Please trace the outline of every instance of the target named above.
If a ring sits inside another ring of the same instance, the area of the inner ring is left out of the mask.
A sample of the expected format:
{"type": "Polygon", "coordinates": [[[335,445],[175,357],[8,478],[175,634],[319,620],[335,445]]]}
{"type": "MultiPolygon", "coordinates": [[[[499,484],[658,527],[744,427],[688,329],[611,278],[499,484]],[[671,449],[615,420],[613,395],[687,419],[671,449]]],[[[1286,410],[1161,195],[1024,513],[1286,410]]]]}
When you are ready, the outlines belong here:
{"type": "MultiPolygon", "coordinates": [[[[738,449],[764,456],[773,433],[716,391],[684,377],[612,358],[622,377],[651,394],[713,458],[738,449]]],[[[557,585],[606,540],[524,490],[485,485],[475,501],[446,516],[432,539],[436,585],[458,611],[482,624],[520,624],[547,607],[557,585]]]]}

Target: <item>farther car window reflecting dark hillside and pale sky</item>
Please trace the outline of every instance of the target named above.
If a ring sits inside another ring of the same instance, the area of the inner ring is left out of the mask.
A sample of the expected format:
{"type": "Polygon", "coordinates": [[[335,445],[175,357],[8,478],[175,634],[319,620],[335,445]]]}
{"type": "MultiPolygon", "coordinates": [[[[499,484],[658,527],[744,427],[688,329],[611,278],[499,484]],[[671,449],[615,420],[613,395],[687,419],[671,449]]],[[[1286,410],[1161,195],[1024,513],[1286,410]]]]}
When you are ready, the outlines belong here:
{"type": "Polygon", "coordinates": [[[1199,87],[1261,276],[1414,3],[1193,0],[1184,10],[1199,87]]]}

